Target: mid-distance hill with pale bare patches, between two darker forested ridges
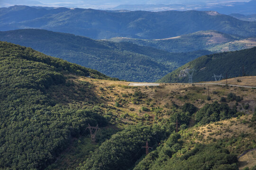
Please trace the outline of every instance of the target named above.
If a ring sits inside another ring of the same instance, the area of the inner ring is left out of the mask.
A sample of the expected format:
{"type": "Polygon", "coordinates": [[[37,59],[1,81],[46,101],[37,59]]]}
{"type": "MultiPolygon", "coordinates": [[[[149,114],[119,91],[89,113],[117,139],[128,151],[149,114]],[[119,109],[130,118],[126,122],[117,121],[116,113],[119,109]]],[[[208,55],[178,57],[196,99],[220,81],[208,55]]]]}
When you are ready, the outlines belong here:
{"type": "MultiPolygon", "coordinates": [[[[184,34],[176,37],[155,40],[143,40],[126,37],[110,38],[112,42],[131,42],[137,45],[145,45],[169,52],[187,52],[202,49],[210,49],[216,45],[239,40],[239,36],[224,34],[218,31],[199,31],[192,34],[184,34]]],[[[240,50],[240,49],[239,49],[240,50]]]]}

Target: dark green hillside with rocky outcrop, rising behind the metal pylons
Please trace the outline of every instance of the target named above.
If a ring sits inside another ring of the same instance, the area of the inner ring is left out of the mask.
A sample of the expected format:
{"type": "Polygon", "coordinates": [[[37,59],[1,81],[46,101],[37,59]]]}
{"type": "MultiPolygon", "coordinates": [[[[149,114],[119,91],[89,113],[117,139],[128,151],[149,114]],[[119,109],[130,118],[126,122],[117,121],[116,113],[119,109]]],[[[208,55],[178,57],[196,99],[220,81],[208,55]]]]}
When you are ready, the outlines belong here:
{"type": "Polygon", "coordinates": [[[222,52],[201,56],[177,68],[157,82],[162,83],[187,83],[188,73],[194,68],[193,82],[213,81],[213,74],[226,78],[256,75],[256,47],[240,51],[222,52]]]}

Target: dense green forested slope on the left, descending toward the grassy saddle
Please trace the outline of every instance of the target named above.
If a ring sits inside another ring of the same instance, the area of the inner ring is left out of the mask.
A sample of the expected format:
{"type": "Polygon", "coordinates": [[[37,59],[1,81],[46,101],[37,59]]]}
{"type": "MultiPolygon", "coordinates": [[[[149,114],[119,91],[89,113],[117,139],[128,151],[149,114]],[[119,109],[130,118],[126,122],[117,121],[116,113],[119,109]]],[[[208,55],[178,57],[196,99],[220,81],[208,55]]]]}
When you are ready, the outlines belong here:
{"type": "Polygon", "coordinates": [[[0,169],[44,169],[88,123],[108,124],[92,109],[98,99],[90,83],[75,85],[66,80],[70,74],[111,79],[31,48],[0,42],[0,169]]]}

